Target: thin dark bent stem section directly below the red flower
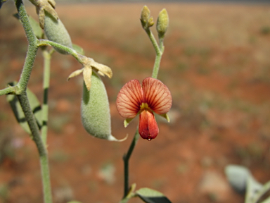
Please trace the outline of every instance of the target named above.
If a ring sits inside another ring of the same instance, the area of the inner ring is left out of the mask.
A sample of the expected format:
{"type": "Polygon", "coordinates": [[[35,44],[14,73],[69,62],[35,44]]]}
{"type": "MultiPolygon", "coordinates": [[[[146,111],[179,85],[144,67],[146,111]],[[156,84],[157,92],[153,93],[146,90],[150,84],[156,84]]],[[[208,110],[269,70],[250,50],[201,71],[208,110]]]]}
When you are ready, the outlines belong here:
{"type": "MultiPolygon", "coordinates": [[[[124,161],[124,197],[126,197],[129,193],[129,158],[133,152],[133,149],[138,142],[139,139],[139,131],[136,130],[136,133],[134,135],[134,138],[129,146],[129,150],[127,151],[127,154],[124,154],[123,161],[124,161]]],[[[123,198],[124,198],[123,197],[123,198]]]]}

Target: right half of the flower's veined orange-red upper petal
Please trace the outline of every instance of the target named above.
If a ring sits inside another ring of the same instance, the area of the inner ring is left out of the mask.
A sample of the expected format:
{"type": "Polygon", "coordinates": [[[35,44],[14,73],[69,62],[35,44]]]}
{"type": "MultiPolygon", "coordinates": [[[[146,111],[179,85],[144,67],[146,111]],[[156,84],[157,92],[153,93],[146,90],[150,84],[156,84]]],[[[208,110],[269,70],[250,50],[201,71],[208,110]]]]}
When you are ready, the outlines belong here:
{"type": "Polygon", "coordinates": [[[143,80],[142,86],[145,102],[155,113],[163,114],[171,109],[171,92],[160,80],[146,78],[143,80]]]}

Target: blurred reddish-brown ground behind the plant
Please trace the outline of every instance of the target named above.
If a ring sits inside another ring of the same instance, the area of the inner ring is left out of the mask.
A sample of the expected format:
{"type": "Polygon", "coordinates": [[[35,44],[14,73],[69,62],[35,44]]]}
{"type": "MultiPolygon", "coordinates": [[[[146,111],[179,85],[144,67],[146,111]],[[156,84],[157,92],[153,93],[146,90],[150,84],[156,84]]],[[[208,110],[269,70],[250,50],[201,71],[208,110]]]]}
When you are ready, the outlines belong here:
{"type": "MultiPolygon", "coordinates": [[[[81,65],[56,53],[48,137],[54,202],[122,198],[122,155],[138,119],[124,128],[115,99],[125,82],[150,76],[155,59],[139,21],[143,5],[56,7],[72,42],[113,69],[113,78],[104,78],[113,135],[129,133],[129,138],[115,143],[87,135],[79,115],[82,78],[66,81],[81,65]]],[[[172,202],[243,202],[226,182],[227,164],[247,166],[262,183],[270,179],[270,5],[148,4],[155,19],[164,7],[170,21],[158,78],[172,92],[172,123],[159,120],[160,135],[151,142],[139,140],[131,156],[130,183],[159,190],[172,202]]],[[[27,11],[37,18],[34,8],[27,11]]],[[[27,50],[13,13],[8,1],[0,12],[1,89],[19,79],[27,50]]],[[[29,87],[40,100],[42,64],[39,52],[29,87]]],[[[37,149],[5,97],[0,106],[0,202],[42,202],[37,149]]]]}

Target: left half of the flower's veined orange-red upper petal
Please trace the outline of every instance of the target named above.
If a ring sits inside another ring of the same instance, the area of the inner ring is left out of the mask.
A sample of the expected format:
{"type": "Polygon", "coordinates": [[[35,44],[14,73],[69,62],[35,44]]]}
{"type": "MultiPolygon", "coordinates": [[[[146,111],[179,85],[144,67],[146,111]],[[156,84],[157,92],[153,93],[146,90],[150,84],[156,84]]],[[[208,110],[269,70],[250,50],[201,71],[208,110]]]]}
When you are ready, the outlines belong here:
{"type": "Polygon", "coordinates": [[[134,118],[143,102],[143,89],[139,80],[127,82],[117,95],[116,107],[124,118],[134,118]]]}

